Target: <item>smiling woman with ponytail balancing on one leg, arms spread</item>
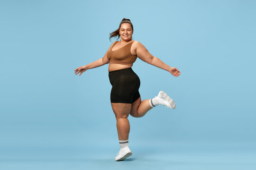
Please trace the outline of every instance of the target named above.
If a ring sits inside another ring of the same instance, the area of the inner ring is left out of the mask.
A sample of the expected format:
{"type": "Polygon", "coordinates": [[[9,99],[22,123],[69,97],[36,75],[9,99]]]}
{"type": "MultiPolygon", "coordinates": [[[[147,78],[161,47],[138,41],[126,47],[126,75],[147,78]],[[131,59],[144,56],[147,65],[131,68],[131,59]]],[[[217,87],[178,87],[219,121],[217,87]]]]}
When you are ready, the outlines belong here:
{"type": "Polygon", "coordinates": [[[131,21],[123,18],[119,28],[110,34],[110,39],[118,36],[118,39],[121,37],[121,40],[113,42],[102,59],[74,70],[76,75],[80,73],[79,76],[81,76],[87,69],[109,63],[109,79],[112,85],[110,101],[117,119],[120,144],[120,151],[115,157],[115,161],[123,161],[132,154],[128,148],[130,125],[127,118],[129,115],[136,118],[143,117],[147,111],[159,104],[175,109],[173,99],[163,91],[160,91],[153,99],[141,101],[138,92],[140,80],[131,68],[137,57],[148,64],[170,72],[175,77],[180,76],[181,73],[177,68],[172,68],[151,55],[143,44],[132,40],[132,34],[131,21]]]}

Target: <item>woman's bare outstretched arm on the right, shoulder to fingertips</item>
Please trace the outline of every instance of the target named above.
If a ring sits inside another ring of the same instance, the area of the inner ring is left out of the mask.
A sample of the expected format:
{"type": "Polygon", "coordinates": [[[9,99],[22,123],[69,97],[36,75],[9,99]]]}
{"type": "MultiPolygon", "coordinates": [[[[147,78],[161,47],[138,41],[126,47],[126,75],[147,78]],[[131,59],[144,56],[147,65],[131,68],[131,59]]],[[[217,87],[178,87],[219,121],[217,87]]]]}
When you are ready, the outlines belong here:
{"type": "Polygon", "coordinates": [[[147,51],[146,47],[140,42],[137,42],[137,44],[136,44],[136,53],[137,53],[137,57],[139,59],[145,61],[146,63],[151,64],[158,68],[162,68],[162,69],[170,72],[172,75],[174,75],[176,77],[180,76],[181,72],[177,68],[175,68],[175,67],[172,68],[172,67],[168,66],[163,61],[161,61],[157,57],[150,54],[147,51]]]}

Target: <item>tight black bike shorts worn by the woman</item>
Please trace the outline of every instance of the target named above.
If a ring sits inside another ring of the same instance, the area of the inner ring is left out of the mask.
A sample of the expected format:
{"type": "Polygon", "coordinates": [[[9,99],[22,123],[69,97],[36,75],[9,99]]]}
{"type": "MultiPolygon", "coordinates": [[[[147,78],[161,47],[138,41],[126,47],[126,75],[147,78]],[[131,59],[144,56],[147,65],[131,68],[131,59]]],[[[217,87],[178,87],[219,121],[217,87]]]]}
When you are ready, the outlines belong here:
{"type": "Polygon", "coordinates": [[[109,72],[112,85],[110,101],[112,103],[133,103],[139,97],[140,80],[132,68],[109,72]]]}

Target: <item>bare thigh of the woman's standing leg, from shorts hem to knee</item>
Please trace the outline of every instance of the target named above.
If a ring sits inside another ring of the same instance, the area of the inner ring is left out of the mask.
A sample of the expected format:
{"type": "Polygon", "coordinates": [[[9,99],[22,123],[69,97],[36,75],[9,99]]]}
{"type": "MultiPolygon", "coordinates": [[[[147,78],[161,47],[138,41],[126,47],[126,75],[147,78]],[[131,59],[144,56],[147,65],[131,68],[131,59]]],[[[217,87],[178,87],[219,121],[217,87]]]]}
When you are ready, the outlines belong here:
{"type": "Polygon", "coordinates": [[[131,106],[130,103],[111,103],[116,118],[128,118],[131,106]]]}

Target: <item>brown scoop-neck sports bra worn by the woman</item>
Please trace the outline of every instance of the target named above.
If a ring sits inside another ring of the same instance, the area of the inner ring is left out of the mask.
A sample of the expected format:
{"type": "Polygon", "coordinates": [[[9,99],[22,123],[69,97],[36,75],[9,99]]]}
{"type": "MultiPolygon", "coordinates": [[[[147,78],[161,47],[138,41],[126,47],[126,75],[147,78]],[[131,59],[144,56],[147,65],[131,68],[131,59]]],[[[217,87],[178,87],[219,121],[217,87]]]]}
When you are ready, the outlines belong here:
{"type": "Polygon", "coordinates": [[[131,54],[131,45],[134,42],[122,46],[118,50],[112,51],[113,46],[119,41],[114,42],[110,51],[108,52],[107,58],[110,60],[110,64],[123,64],[132,66],[137,59],[137,55],[131,54]]]}

